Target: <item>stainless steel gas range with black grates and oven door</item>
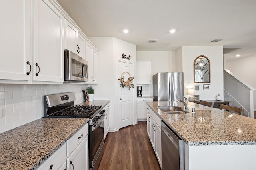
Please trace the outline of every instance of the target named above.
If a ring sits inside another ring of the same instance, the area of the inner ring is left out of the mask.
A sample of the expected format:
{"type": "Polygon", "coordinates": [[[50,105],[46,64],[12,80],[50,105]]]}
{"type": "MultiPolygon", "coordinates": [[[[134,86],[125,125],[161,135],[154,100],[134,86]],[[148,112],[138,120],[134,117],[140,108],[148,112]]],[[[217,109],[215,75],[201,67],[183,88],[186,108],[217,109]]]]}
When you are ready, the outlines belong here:
{"type": "Polygon", "coordinates": [[[44,117],[89,118],[89,169],[97,170],[104,148],[104,116],[102,106],[74,105],[74,92],[44,96],[44,117]]]}

